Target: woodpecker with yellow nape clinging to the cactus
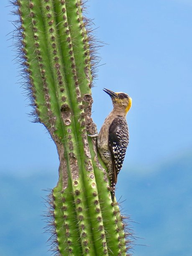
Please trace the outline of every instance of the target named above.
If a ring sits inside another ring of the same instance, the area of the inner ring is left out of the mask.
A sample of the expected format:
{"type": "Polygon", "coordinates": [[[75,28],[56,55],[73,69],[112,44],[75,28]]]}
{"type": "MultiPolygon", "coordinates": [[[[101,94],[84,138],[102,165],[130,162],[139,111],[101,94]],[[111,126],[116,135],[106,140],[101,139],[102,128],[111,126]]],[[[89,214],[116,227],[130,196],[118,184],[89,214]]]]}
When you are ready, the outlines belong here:
{"type": "Polygon", "coordinates": [[[132,99],[126,93],[105,89],[113,102],[113,110],[105,119],[98,135],[97,145],[102,161],[107,165],[111,198],[114,201],[117,176],[123,165],[125,152],[129,143],[126,115],[131,108],[132,99]]]}

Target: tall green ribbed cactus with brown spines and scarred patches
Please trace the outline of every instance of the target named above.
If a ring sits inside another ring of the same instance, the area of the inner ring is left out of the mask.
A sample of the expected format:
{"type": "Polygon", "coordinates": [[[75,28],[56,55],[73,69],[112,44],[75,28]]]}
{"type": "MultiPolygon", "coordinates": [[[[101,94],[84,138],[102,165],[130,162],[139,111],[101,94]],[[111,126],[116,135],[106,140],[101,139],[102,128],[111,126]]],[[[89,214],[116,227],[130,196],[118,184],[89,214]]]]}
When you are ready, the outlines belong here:
{"type": "Polygon", "coordinates": [[[91,118],[95,61],[81,0],[17,0],[20,55],[36,121],[59,154],[49,195],[48,230],[56,255],[130,255],[131,230],[111,201],[91,118]]]}

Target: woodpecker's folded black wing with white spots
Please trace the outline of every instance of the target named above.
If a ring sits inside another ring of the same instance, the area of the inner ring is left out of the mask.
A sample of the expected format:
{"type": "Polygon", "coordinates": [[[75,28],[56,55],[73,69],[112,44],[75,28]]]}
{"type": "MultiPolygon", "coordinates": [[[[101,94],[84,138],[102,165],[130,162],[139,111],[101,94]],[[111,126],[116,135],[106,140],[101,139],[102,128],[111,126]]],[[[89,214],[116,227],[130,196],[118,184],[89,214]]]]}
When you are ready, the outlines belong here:
{"type": "Polygon", "coordinates": [[[109,127],[109,149],[112,157],[111,187],[115,187],[117,176],[123,165],[129,143],[128,125],[122,116],[116,117],[109,127]]]}

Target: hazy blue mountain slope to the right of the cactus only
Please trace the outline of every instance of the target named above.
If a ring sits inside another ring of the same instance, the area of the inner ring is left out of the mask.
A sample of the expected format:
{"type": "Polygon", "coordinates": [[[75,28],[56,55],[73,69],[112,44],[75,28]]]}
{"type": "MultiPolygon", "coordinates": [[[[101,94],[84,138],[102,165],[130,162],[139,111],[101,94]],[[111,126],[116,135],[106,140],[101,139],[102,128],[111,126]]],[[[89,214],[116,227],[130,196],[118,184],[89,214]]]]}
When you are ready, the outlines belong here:
{"type": "MultiPolygon", "coordinates": [[[[126,171],[126,170],[125,170],[126,171]]],[[[192,152],[148,170],[127,170],[118,195],[136,236],[134,256],[192,255],[192,152]]]]}

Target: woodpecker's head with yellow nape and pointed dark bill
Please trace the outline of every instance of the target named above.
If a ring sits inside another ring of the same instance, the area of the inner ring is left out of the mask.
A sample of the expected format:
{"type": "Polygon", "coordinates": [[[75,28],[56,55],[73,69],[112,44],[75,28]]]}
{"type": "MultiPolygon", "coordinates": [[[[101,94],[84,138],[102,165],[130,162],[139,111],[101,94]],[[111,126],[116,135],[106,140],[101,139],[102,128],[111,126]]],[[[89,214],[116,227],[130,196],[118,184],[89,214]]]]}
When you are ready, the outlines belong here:
{"type": "Polygon", "coordinates": [[[128,113],[132,104],[132,99],[131,97],[129,97],[129,95],[124,92],[113,92],[106,88],[104,88],[103,91],[111,97],[114,108],[123,108],[125,110],[125,113],[128,113]]]}

